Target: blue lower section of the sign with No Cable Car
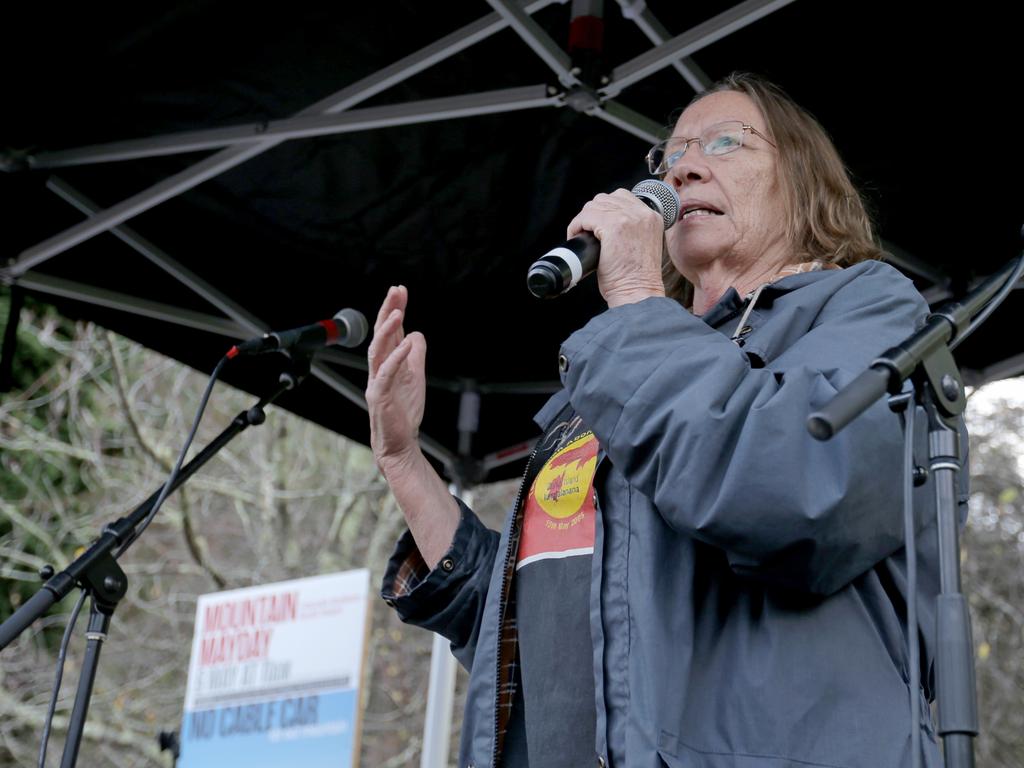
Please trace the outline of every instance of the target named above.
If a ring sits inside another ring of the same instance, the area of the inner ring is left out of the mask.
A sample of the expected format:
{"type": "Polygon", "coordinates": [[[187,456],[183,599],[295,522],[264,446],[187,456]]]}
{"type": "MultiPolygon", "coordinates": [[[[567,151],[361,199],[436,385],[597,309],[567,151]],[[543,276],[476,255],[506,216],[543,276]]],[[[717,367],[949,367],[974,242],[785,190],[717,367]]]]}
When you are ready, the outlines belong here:
{"type": "Polygon", "coordinates": [[[185,711],[179,768],[351,768],[354,688],[185,711]]]}

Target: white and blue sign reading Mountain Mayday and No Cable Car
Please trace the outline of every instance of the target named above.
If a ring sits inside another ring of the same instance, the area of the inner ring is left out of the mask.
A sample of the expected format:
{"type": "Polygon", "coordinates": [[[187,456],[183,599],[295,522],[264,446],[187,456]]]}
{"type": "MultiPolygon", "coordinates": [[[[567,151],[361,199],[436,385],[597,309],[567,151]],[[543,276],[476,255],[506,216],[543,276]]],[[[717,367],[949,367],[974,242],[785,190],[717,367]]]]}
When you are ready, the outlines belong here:
{"type": "Polygon", "coordinates": [[[181,768],[357,762],[370,571],[203,595],[181,768]]]}

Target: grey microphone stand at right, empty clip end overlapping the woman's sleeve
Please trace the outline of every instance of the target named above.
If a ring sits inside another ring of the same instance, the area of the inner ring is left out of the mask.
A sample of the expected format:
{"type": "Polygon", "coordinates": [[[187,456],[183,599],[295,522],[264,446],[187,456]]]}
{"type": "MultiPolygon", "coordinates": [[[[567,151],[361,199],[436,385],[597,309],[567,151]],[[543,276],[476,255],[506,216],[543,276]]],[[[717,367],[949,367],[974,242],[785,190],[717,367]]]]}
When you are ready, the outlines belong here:
{"type": "MultiPolygon", "coordinates": [[[[940,594],[937,597],[936,694],[939,735],[947,768],[973,768],[978,735],[974,644],[967,600],[961,593],[959,523],[956,519],[956,474],[961,470],[959,415],[967,406],[952,347],[973,331],[971,318],[1001,301],[1024,271],[1024,256],[1009,262],[959,302],[929,315],[924,328],[892,347],[808,418],[810,433],[826,440],[849,424],[886,391],[895,395],[910,379],[919,406],[928,415],[929,464],[935,485],[940,594]]],[[[907,437],[910,439],[910,436],[907,437]]],[[[908,595],[908,601],[915,595],[908,595]]],[[[908,627],[912,633],[916,630],[908,627]]],[[[916,691],[912,694],[916,696],[916,691]]],[[[916,759],[916,756],[914,756],[916,759]]]]}

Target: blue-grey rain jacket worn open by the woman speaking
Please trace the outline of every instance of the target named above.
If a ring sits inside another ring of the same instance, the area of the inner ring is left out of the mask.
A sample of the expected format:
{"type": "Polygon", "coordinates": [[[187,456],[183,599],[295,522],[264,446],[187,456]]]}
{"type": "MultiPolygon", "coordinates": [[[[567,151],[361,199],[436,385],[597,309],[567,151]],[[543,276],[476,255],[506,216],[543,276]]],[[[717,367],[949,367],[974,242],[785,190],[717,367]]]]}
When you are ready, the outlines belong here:
{"type": "MultiPolygon", "coordinates": [[[[564,342],[564,390],[538,415],[547,426],[570,400],[606,452],[595,479],[594,765],[902,768],[899,420],[880,401],[827,442],[805,421],[927,305],[898,271],[865,262],[784,278],[749,308],[730,291],[703,317],[665,298],[603,312],[564,342]]],[[[966,482],[961,492],[963,513],[966,482]]],[[[940,762],[928,703],[932,496],[930,484],[914,492],[926,768],[940,762]]],[[[418,556],[407,531],[384,579],[401,618],[443,635],[470,670],[463,768],[526,765],[521,731],[494,754],[503,565],[519,516],[499,535],[462,506],[438,567],[396,587],[418,556]]]]}

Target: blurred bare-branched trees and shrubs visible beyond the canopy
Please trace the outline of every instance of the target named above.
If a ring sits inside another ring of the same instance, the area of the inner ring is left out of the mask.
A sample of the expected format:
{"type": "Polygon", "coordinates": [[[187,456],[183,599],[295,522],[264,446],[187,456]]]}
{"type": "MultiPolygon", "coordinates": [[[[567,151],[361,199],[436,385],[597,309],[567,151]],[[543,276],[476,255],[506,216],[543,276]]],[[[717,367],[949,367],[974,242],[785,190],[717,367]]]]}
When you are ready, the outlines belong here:
{"type": "MultiPolygon", "coordinates": [[[[0,295],[0,334],[6,301],[0,295]]],[[[206,378],[100,328],[27,305],[14,386],[0,394],[0,618],[35,593],[40,568],[66,566],[105,522],[163,482],[206,378]]],[[[978,763],[1024,768],[1024,400],[1006,391],[975,393],[969,409],[974,485],[964,580],[977,646],[978,763]]],[[[197,446],[254,400],[218,384],[197,446]]],[[[476,489],[474,506],[493,526],[515,486],[476,489]]],[[[168,499],[122,558],[129,593],[100,657],[80,764],[171,765],[158,734],[179,727],[198,595],[356,567],[369,568],[376,587],[402,527],[368,449],[269,408],[264,425],[168,499]]],[[[73,603],[54,606],[0,655],[0,765],[37,764],[73,603]]],[[[372,623],[360,765],[418,765],[431,637],[379,602],[372,623]]],[[[82,616],[47,765],[59,763],[84,627],[82,616]]],[[[465,681],[460,670],[453,753],[465,681]]]]}

